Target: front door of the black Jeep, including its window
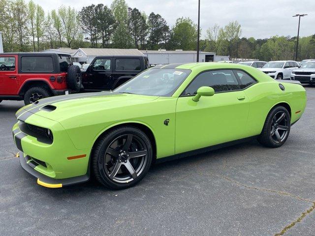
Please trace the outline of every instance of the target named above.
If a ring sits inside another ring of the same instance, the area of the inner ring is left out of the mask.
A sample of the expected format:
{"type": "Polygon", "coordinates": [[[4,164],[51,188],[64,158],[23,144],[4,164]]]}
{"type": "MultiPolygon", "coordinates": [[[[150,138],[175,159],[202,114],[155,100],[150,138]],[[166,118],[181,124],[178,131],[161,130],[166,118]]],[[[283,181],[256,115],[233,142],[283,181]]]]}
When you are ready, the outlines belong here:
{"type": "Polygon", "coordinates": [[[112,59],[108,57],[96,58],[90,68],[87,79],[84,78],[83,86],[86,90],[111,89],[112,59]]]}

